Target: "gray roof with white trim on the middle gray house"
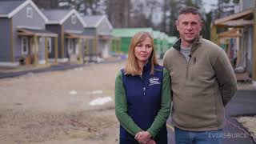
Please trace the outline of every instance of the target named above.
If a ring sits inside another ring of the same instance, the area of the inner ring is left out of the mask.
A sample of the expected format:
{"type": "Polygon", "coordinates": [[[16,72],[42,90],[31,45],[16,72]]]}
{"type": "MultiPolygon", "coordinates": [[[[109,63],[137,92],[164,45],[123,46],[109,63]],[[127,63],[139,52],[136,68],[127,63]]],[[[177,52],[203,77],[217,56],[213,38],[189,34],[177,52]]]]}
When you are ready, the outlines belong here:
{"type": "Polygon", "coordinates": [[[83,21],[82,17],[78,14],[77,10],[42,10],[42,13],[46,15],[49,19],[47,24],[63,24],[72,14],[75,14],[78,20],[85,27],[86,23],[83,21]]]}

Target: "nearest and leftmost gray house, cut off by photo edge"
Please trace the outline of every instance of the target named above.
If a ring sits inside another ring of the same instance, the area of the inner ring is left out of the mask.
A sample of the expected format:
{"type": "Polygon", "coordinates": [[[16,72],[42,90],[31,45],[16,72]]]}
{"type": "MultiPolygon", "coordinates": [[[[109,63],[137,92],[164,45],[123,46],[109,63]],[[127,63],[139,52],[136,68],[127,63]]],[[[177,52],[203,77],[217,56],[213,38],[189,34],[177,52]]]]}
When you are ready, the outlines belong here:
{"type": "Polygon", "coordinates": [[[46,31],[47,21],[31,0],[0,1],[0,66],[46,64],[47,38],[58,37],[46,31]]]}

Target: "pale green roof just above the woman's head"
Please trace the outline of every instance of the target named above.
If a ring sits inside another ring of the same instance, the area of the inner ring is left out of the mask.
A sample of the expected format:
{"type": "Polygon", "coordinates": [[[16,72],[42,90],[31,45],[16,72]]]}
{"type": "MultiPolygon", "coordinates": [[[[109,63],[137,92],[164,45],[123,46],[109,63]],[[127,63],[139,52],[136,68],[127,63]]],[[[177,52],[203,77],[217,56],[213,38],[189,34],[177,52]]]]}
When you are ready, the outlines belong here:
{"type": "Polygon", "coordinates": [[[115,37],[121,37],[121,38],[131,38],[134,36],[134,34],[138,33],[139,31],[146,31],[150,34],[153,33],[153,29],[150,27],[139,27],[139,28],[120,28],[120,29],[114,29],[112,31],[112,35],[115,37]]]}

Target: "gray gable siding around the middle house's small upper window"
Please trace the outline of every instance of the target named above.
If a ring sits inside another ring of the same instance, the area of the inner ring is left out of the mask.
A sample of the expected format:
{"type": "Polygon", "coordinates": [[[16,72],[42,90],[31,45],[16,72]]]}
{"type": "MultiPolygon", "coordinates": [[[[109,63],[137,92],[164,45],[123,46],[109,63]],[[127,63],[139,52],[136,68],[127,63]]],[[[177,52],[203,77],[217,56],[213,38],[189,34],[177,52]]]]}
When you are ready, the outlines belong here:
{"type": "MultiPolygon", "coordinates": [[[[72,15],[74,15],[74,14],[72,14],[72,15]]],[[[78,20],[78,18],[77,18],[76,24],[72,24],[72,22],[71,22],[72,15],[69,18],[67,18],[66,21],[63,23],[64,30],[79,30],[79,31],[82,31],[83,26],[82,26],[82,23],[78,20]]]]}

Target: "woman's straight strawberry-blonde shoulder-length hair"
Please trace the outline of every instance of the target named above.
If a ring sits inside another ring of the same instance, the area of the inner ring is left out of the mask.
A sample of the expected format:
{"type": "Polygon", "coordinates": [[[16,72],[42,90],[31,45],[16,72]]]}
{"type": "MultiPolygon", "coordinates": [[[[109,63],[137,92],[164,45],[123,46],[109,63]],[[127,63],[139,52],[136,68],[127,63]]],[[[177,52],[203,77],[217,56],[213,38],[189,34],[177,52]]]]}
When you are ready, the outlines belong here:
{"type": "Polygon", "coordinates": [[[154,74],[154,65],[158,65],[157,58],[155,56],[154,52],[154,39],[151,36],[150,33],[148,32],[138,32],[137,34],[134,34],[133,38],[130,40],[130,46],[129,46],[129,51],[128,51],[128,60],[126,62],[126,67],[125,67],[125,74],[130,74],[130,75],[139,75],[141,74],[141,68],[138,66],[138,59],[136,58],[134,54],[134,49],[138,45],[138,43],[141,43],[145,41],[146,38],[151,39],[151,46],[152,46],[152,53],[149,58],[150,62],[150,74],[154,74]]]}

